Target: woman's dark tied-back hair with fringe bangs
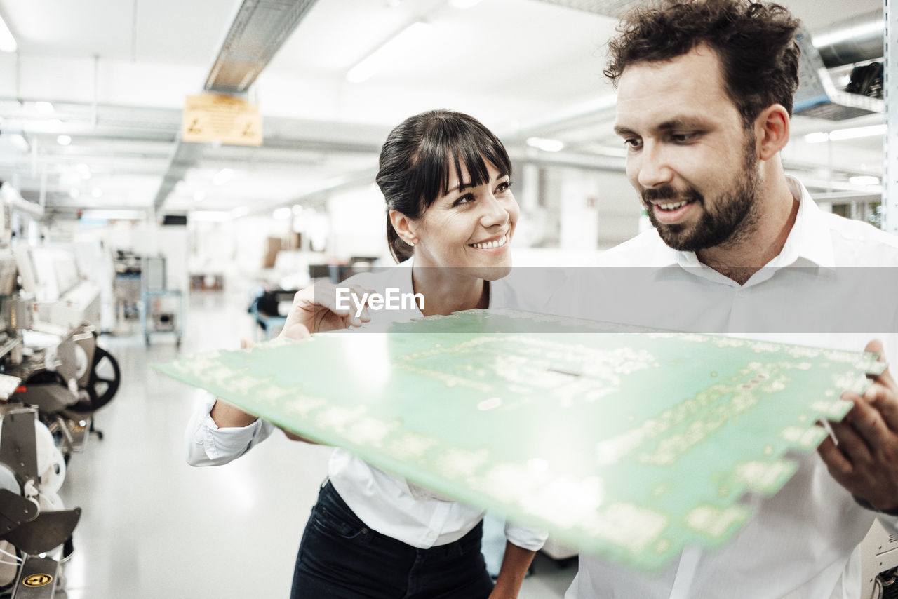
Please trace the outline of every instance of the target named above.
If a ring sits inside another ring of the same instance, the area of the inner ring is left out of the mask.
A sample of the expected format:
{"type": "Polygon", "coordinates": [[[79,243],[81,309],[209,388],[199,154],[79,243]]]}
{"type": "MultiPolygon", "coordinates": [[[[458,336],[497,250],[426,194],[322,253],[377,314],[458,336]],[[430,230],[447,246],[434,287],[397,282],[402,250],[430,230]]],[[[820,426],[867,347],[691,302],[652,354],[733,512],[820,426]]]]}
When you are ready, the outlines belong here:
{"type": "Polygon", "coordinates": [[[459,181],[462,185],[489,182],[486,161],[500,175],[511,174],[502,142],[479,120],[461,112],[422,112],[390,132],[375,181],[387,203],[387,242],[394,259],[406,260],[412,250],[393,229],[390,211],[420,218],[436,198],[448,193],[450,175],[462,173],[462,166],[471,177],[471,181],[459,181]]]}

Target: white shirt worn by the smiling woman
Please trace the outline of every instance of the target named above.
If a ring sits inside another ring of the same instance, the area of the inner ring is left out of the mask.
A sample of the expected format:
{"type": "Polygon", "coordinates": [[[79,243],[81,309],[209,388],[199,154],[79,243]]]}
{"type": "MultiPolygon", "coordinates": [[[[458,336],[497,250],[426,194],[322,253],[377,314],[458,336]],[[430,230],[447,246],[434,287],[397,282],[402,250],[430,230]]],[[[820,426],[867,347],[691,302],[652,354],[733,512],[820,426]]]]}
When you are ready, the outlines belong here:
{"type": "MultiPolygon", "coordinates": [[[[378,293],[398,288],[412,292],[412,260],[393,269],[361,273],[344,284],[355,284],[378,293]]],[[[531,293],[519,294],[510,282],[513,274],[490,283],[489,307],[543,309],[543,302],[531,293]]],[[[546,290],[549,292],[550,290],[546,290]]],[[[423,314],[417,307],[403,311],[371,311],[366,328],[382,330],[391,322],[406,322],[423,314]]],[[[215,398],[209,398],[191,418],[187,429],[187,461],[195,466],[230,462],[267,438],[273,429],[259,419],[242,428],[218,428],[209,415],[215,398]]],[[[346,450],[335,448],[328,466],[330,482],[341,498],[365,524],[418,549],[428,549],[461,539],[483,517],[483,511],[457,501],[439,498],[427,489],[399,476],[382,471],[346,450]]],[[[506,522],[506,538],[518,547],[537,551],[548,534],[506,522]]]]}

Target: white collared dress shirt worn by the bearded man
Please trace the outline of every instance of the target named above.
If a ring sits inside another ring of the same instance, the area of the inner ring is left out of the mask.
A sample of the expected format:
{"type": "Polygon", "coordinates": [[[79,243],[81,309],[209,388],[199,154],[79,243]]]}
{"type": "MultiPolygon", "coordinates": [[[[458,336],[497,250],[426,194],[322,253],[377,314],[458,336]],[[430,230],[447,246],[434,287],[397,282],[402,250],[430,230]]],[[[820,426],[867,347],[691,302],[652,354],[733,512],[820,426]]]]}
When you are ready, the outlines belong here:
{"type": "MultiPolygon", "coordinates": [[[[629,269],[601,269],[603,274],[620,271],[611,276],[616,280],[610,285],[603,276],[576,282],[577,290],[569,295],[581,301],[564,309],[612,322],[731,331],[740,337],[818,347],[861,350],[868,340],[878,338],[885,341],[890,363],[898,365],[895,282],[864,288],[844,288],[839,283],[842,274],[865,272],[841,267],[898,266],[898,237],[824,213],[795,179],[789,179],[789,187],[800,202],[796,223],[779,256],[744,286],[701,264],[694,252],[672,250],[652,229],[605,252],[601,266],[629,269]],[[830,286],[825,284],[827,277],[835,281],[830,286]],[[835,304],[815,294],[818,281],[823,281],[827,299],[828,294],[835,295],[835,304]],[[625,293],[622,285],[629,286],[625,293]],[[638,299],[622,299],[621,294],[638,299]],[[841,306],[848,324],[841,326],[841,319],[833,318],[832,306],[841,306]],[[874,312],[881,332],[869,332],[866,318],[849,317],[858,311],[874,312]]],[[[885,269],[871,269],[867,275],[875,277],[880,271],[885,269]]],[[[797,473],[771,498],[746,498],[753,517],[722,549],[688,549],[678,563],[656,575],[581,554],[579,572],[566,599],[858,597],[860,572],[854,550],[876,513],[858,506],[832,479],[818,454],[789,457],[799,462],[797,473]]],[[[879,516],[884,524],[894,526],[894,517],[879,516]]]]}

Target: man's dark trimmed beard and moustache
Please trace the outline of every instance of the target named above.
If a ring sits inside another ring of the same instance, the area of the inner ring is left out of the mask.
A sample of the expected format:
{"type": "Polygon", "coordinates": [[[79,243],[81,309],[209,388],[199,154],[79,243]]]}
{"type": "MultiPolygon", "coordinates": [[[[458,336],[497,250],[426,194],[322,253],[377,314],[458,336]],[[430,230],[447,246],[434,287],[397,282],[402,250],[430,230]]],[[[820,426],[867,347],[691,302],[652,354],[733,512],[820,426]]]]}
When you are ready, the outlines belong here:
{"type": "Polygon", "coordinates": [[[757,229],[758,158],[754,153],[754,136],[748,137],[742,172],[736,178],[735,189],[718,197],[710,206],[705,203],[699,190],[693,187],[680,191],[668,185],[642,190],[642,201],[647,207],[649,220],[661,239],[674,250],[699,251],[718,245],[734,245],[757,229]],[[701,208],[699,222],[694,225],[660,223],[650,203],[653,199],[698,202],[701,208]]]}

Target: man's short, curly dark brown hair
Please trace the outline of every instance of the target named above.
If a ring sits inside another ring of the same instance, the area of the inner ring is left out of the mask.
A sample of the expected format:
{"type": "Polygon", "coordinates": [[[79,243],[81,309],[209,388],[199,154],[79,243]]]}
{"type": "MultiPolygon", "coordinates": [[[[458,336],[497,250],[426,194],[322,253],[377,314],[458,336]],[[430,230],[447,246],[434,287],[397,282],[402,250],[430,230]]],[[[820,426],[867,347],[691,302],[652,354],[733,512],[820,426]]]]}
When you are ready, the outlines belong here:
{"type": "Polygon", "coordinates": [[[670,60],[707,44],[717,52],[726,94],[747,128],[771,104],[792,114],[799,25],[788,9],[770,2],[665,0],[624,15],[604,74],[616,84],[629,65],[670,60]]]}

